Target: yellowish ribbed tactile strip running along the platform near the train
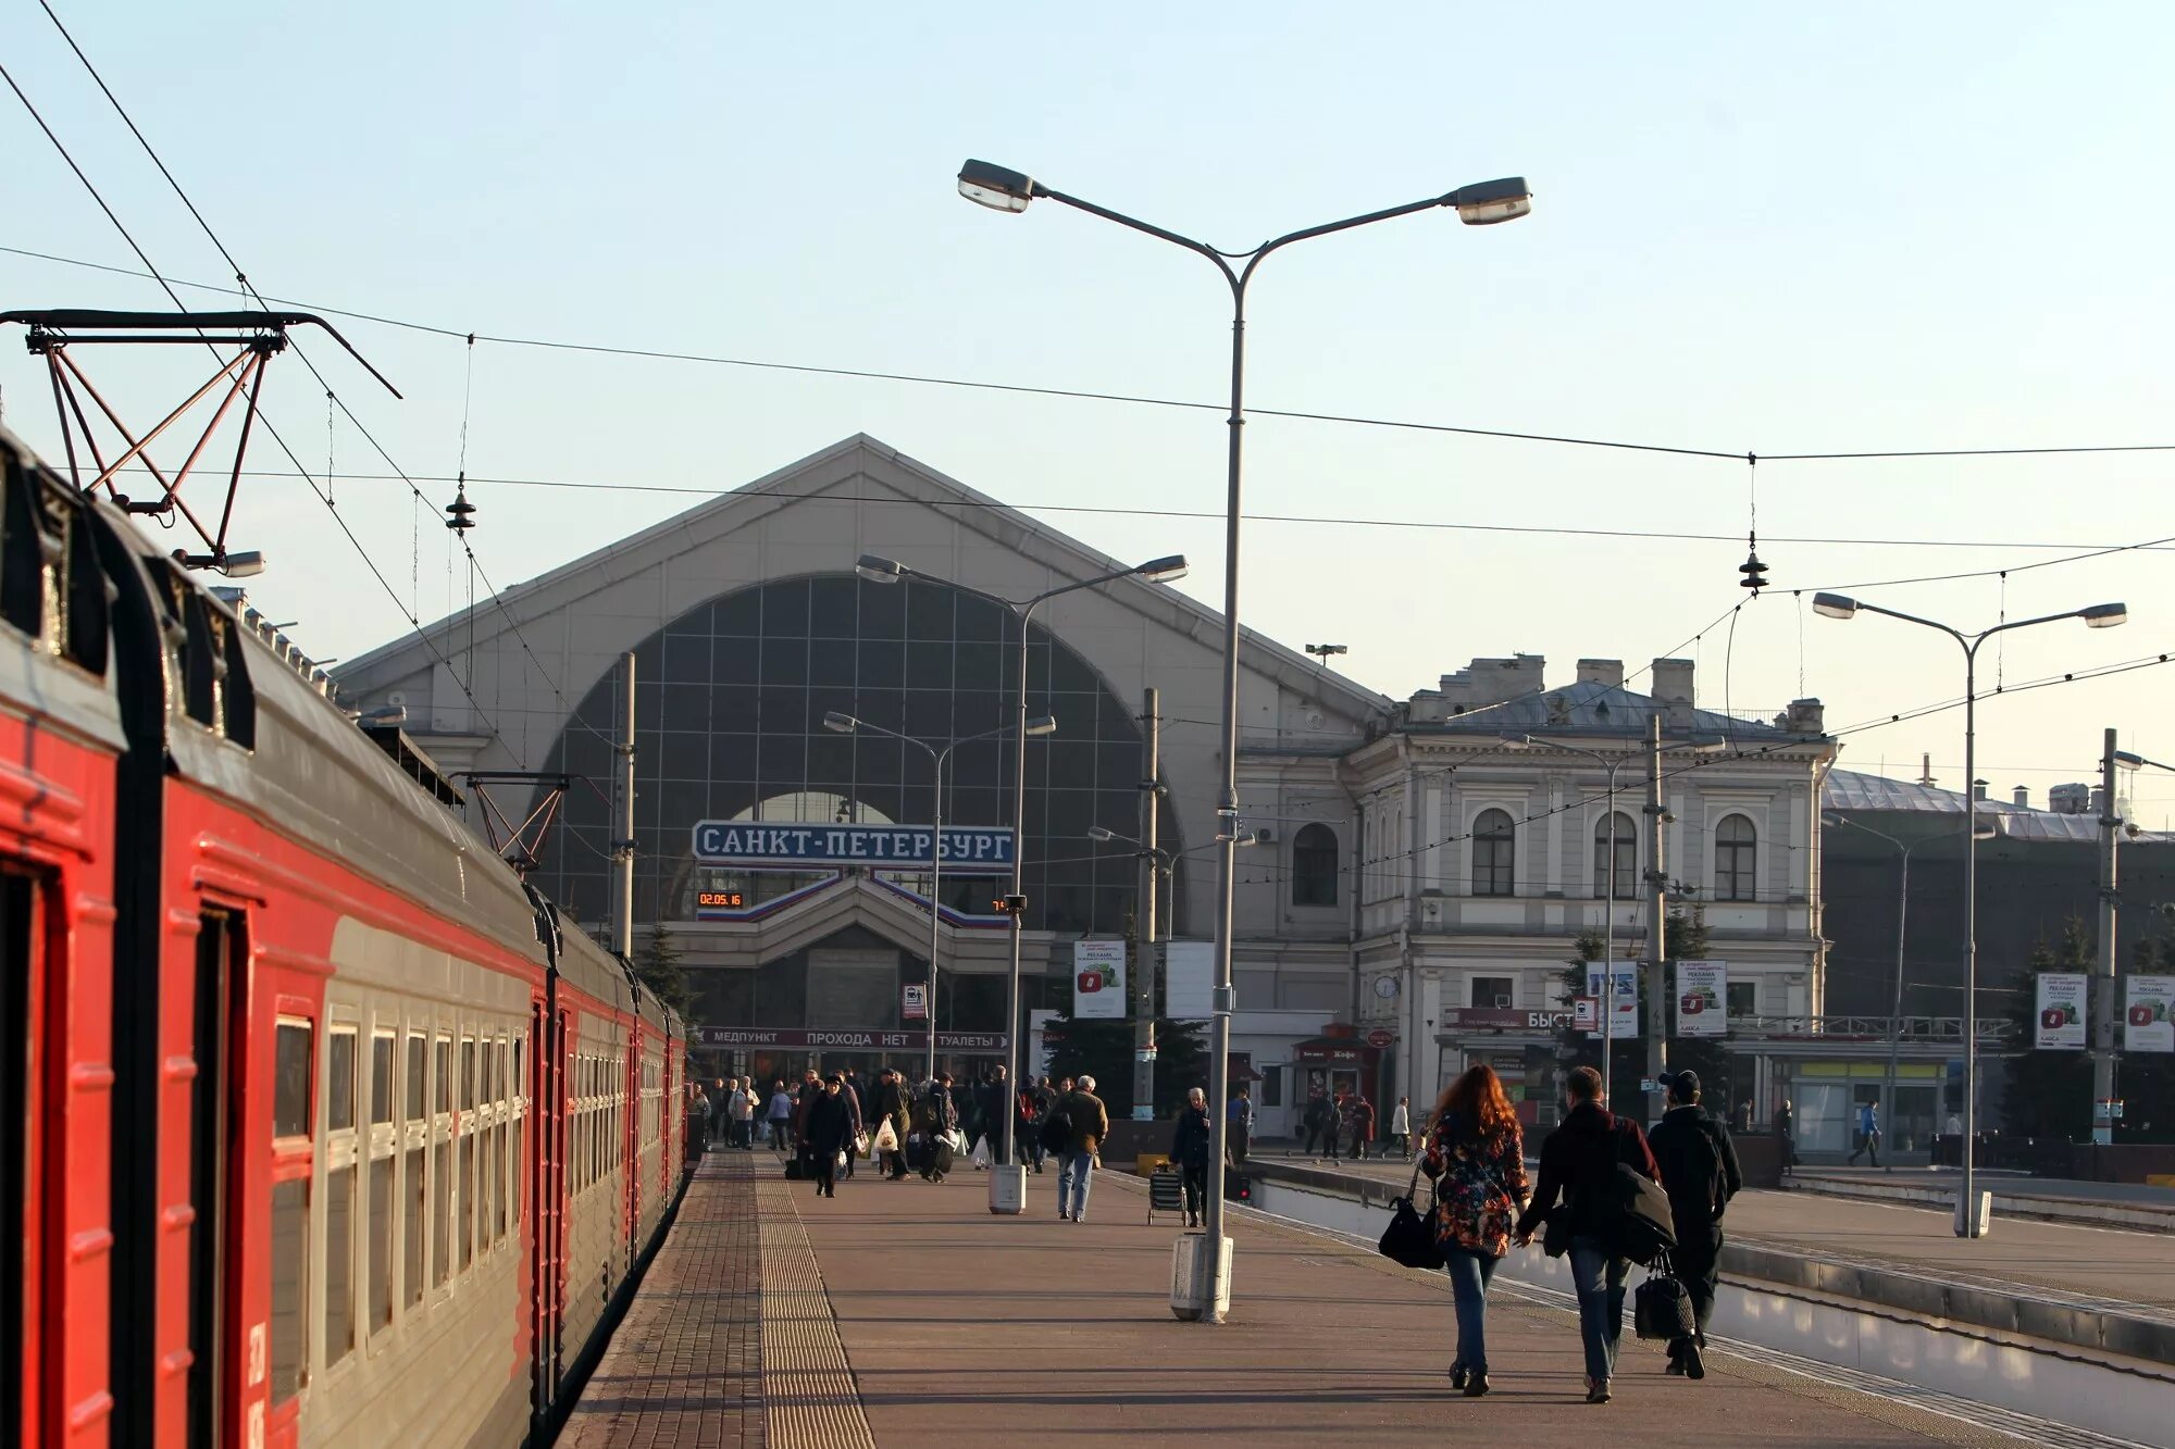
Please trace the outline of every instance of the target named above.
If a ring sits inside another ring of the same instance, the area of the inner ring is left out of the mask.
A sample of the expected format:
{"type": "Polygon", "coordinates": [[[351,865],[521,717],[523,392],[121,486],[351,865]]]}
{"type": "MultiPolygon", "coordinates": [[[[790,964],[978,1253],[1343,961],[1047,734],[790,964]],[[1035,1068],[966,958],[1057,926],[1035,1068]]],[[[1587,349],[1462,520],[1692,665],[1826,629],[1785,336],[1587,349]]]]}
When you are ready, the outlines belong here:
{"type": "Polygon", "coordinates": [[[874,1449],[831,1295],[783,1181],[755,1186],[763,1255],[763,1429],[774,1449],[874,1449]]]}

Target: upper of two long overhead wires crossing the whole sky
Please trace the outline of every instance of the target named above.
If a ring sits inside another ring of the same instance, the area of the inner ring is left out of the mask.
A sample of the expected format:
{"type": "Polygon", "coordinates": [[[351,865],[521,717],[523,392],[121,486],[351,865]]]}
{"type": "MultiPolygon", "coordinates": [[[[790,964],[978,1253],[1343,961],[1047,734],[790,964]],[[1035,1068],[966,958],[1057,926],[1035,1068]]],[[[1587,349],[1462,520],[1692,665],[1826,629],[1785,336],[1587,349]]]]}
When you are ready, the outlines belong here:
{"type": "MultiPolygon", "coordinates": [[[[33,257],[37,261],[52,261],[52,263],[59,263],[59,265],[76,265],[76,268],[91,268],[91,270],[98,270],[98,272],[130,274],[128,268],[115,268],[115,265],[107,265],[107,263],[98,263],[98,261],[83,261],[78,257],[59,257],[59,255],[52,255],[52,252],[39,252],[39,250],[20,248],[20,246],[0,246],[0,252],[11,252],[11,255],[17,255],[17,257],[33,257]]],[[[224,294],[231,294],[231,296],[244,296],[244,292],[237,292],[233,287],[211,285],[211,283],[191,283],[191,281],[178,281],[176,278],[174,285],[194,287],[194,289],[202,289],[202,292],[224,292],[224,294]]],[[[257,296],[257,294],[254,294],[254,289],[250,289],[250,292],[246,292],[246,296],[257,296]]],[[[920,387],[964,387],[964,389],[977,389],[977,392],[1005,392],[1005,394],[1022,394],[1022,396],[1072,398],[1072,400],[1088,400],[1088,403],[1122,403],[1122,405],[1133,405],[1133,407],[1170,407],[1170,409],[1185,409],[1185,411],[1225,411],[1227,409],[1227,403],[1192,400],[1192,398],[1157,398],[1157,396],[1148,396],[1148,394],[1101,392],[1101,389],[1090,389],[1090,387],[1051,387],[1051,385],[1033,385],[1033,383],[1000,383],[1000,381],[992,381],[992,379],[937,376],[937,374],[927,374],[927,372],[890,372],[890,370],[877,370],[877,368],[837,368],[837,366],[820,366],[820,363],[790,363],[790,361],[759,359],[759,357],[726,357],[726,355],[716,355],[716,352],[687,352],[687,350],[674,350],[674,348],[661,348],[661,346],[659,348],[644,348],[644,346],[616,346],[616,344],[600,344],[600,342],[572,342],[572,339],[561,339],[561,337],[520,337],[520,335],[500,335],[500,333],[470,333],[465,329],[437,326],[437,324],[431,324],[431,322],[413,322],[413,320],[405,320],[405,318],[389,318],[389,315],[383,315],[383,313],[368,313],[368,311],[355,311],[355,309],[344,309],[344,307],[326,307],[322,302],[304,302],[304,300],[294,300],[294,298],[272,298],[272,300],[283,302],[287,307],[307,307],[311,311],[318,311],[318,313],[324,313],[324,315],[333,315],[333,318],[352,318],[357,322],[372,322],[372,324],[378,324],[378,326],[396,326],[396,329],[405,329],[405,331],[413,331],[413,333],[428,333],[428,335],[437,335],[437,337],[457,337],[457,339],[474,337],[476,342],[485,342],[485,344],[492,344],[492,346],[509,346],[509,348],[537,348],[537,350],[550,350],[550,352],[589,352],[589,355],[598,355],[598,357],[629,357],[629,359],[644,359],[644,361],[679,361],[679,363],[698,363],[698,366],[716,366],[716,368],[748,368],[748,370],[759,370],[759,372],[798,372],[798,374],[809,374],[809,376],[840,376],[840,379],[859,379],[859,381],[877,381],[877,383],[907,383],[907,385],[920,385],[920,387]]],[[[259,305],[263,305],[263,302],[265,302],[265,298],[259,296],[259,305]]],[[[1527,433],[1527,431],[1516,431],[1516,429],[1483,429],[1483,426],[1466,426],[1466,424],[1451,424],[1451,422],[1422,422],[1422,420],[1412,420],[1412,418],[1368,418],[1368,416],[1359,416],[1359,413],[1325,413],[1325,411],[1307,411],[1307,409],[1290,409],[1290,407],[1248,407],[1246,413],[1255,416],[1255,418],[1290,418],[1294,422],[1333,422],[1333,424],[1366,426],[1366,429],[1407,429],[1407,431],[1418,431],[1418,433],[1449,433],[1449,435],[1462,435],[1462,437],[1494,437],[1494,439],[1505,439],[1505,442],[1531,442],[1531,444],[1551,444],[1551,446],[1568,446],[1568,448],[1612,448],[1612,450],[1623,450],[1623,453],[1657,453],[1657,455],[1668,455],[1668,457],[1703,457],[1703,459],[1725,459],[1725,461],[1744,461],[1749,457],[1747,450],[1742,450],[1742,448],[1692,448],[1692,446],[1675,446],[1675,444],[1631,442],[1631,439],[1618,439],[1618,437],[1581,437],[1581,435],[1575,435],[1575,433],[1527,433]]],[[[2062,446],[2025,446],[2025,448],[1897,448],[1897,450],[1860,448],[1860,450],[1838,450],[1838,453],[1757,453],[1757,457],[1762,461],[1768,461],[1768,463],[1814,463],[1814,461],[1936,459],[1936,457],[2064,457],[2064,455],[2066,457],[2075,457],[2075,455],[2095,455],[2095,453],[2175,453],[2175,442],[2171,442],[2171,444],[2062,444],[2062,446]]]]}

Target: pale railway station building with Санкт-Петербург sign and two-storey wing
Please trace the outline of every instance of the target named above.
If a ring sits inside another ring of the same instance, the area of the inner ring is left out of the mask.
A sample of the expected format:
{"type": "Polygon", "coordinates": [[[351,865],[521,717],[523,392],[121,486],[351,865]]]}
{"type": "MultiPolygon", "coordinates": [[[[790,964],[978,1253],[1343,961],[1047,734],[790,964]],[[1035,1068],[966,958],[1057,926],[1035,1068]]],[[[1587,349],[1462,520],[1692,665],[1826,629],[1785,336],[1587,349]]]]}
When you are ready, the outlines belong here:
{"type": "MultiPolygon", "coordinates": [[[[905,1066],[933,1012],[940,1055],[972,1070],[1007,1029],[1009,859],[946,866],[931,1001],[929,877],[905,840],[935,820],[933,753],[948,746],[946,840],[1003,833],[1020,635],[992,598],[1138,564],[857,435],[442,620],[431,646],[409,635],[337,674],[350,707],[405,709],[446,772],[568,777],[531,881],[600,929],[618,668],[633,653],[637,955],[652,931],[679,953],[705,1066],[905,1066]],[[903,577],[857,572],[866,555],[903,577]],[[703,849],[705,825],[711,846],[735,849],[703,849]],[[766,849],[783,827],[807,846],[750,857],[753,827],[766,849]],[[894,833],[905,853],[877,855],[894,833]]],[[[1142,833],[1151,688],[1170,855],[1159,914],[1170,938],[1211,938],[1220,640],[1214,609],[1144,577],[1035,611],[1029,711],[1055,731],[1024,761],[1024,1010],[1070,1010],[1074,942],[1129,927],[1140,859],[1094,831],[1142,833]]],[[[1396,1094],[1427,1103],[1477,1060],[1529,1112],[1553,1103],[1559,977],[1573,940],[1607,927],[1612,862],[1618,957],[1644,942],[1651,716],[1670,740],[1664,868],[1727,957],[1718,1005],[1825,1010],[1818,801],[1836,746],[1816,701],[1731,718],[1694,705],[1690,661],[1627,677],[1586,659],[1551,683],[1531,655],[1472,659],[1390,698],[1277,640],[1242,640],[1233,1049],[1264,1136],[1292,1129],[1309,1086],[1366,1086],[1388,1116],[1396,1094]],[[1614,809],[1603,761],[1505,735],[1623,755],[1614,809]],[[1692,753],[1712,740],[1731,748],[1692,753]]],[[[542,783],[485,794],[511,820],[550,803],[542,783]]],[[[1764,1112],[1777,1088],[1755,1088],[1764,1112]]]]}

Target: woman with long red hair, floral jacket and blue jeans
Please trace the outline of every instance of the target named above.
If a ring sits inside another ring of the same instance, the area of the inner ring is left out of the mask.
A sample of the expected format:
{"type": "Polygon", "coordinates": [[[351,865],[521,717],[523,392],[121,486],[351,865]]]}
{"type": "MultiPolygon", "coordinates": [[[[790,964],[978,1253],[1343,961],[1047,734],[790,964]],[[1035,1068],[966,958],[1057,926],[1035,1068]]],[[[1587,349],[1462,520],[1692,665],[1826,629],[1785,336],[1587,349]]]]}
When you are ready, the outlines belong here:
{"type": "Polygon", "coordinates": [[[1457,1305],[1451,1388],[1479,1399],[1488,1392],[1488,1279],[1509,1253],[1527,1188],[1518,1112],[1486,1062],[1442,1088],[1420,1171],[1435,1179],[1435,1242],[1457,1305]]]}

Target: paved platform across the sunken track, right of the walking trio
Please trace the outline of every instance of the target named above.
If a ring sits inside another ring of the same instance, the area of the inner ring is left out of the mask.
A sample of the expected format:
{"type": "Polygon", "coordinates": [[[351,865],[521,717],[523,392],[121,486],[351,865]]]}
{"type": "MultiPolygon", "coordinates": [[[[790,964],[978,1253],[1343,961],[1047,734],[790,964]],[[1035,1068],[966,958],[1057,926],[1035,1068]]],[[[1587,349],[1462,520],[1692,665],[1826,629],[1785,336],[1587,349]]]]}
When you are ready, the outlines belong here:
{"type": "MultiPolygon", "coordinates": [[[[1262,1160],[1333,1166],[1379,1181],[1412,1173],[1412,1164],[1396,1157],[1329,1164],[1305,1155],[1266,1153],[1262,1160]]],[[[1820,1258],[1884,1264],[1981,1286],[1992,1281],[2042,1288],[2097,1303],[2132,1305],[2147,1316],[2175,1314],[2175,1253],[2168,1251],[2166,1236],[2151,1231],[2005,1218],[1997,1212],[1986,1238],[1957,1238],[1949,1214],[1940,1210],[1757,1188],[1740,1192],[1729,1203],[1723,1229],[1740,1242],[1820,1258]]]]}

